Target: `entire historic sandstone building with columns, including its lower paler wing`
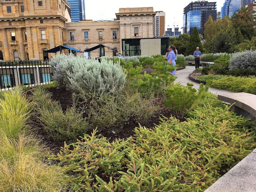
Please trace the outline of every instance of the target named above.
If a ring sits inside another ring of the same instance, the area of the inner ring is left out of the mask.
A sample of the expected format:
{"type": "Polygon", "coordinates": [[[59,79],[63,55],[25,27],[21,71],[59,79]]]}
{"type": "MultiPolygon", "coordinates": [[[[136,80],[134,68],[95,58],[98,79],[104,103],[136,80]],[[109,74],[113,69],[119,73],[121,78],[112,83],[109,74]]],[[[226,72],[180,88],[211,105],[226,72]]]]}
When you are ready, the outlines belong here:
{"type": "MultiPolygon", "coordinates": [[[[44,51],[58,45],[84,51],[103,44],[104,55],[115,56],[122,51],[121,39],[153,37],[155,15],[153,7],[120,8],[117,21],[68,22],[66,0],[0,0],[0,60],[50,58],[55,53],[44,51]]],[[[98,50],[77,54],[99,55],[98,50]]]]}

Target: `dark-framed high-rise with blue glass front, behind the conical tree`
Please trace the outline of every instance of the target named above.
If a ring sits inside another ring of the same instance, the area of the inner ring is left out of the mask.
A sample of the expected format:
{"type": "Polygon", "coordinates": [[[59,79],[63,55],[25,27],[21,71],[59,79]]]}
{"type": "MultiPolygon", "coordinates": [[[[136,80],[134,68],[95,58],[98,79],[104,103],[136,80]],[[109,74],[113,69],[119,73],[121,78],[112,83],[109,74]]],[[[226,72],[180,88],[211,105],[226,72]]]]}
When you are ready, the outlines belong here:
{"type": "Polygon", "coordinates": [[[216,21],[216,2],[202,0],[189,3],[183,10],[183,33],[191,35],[196,26],[198,33],[203,35],[204,23],[208,20],[210,15],[213,20],[216,21]]]}

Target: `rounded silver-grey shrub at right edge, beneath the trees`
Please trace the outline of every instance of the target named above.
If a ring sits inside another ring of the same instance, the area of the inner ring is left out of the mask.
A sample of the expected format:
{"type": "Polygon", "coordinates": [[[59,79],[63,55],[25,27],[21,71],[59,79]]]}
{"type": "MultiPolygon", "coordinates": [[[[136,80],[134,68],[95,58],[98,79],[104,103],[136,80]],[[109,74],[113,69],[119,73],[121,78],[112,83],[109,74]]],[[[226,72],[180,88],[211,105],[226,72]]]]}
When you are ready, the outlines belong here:
{"type": "Polygon", "coordinates": [[[247,50],[244,52],[233,53],[229,60],[229,69],[250,69],[256,70],[256,51],[247,50]]]}

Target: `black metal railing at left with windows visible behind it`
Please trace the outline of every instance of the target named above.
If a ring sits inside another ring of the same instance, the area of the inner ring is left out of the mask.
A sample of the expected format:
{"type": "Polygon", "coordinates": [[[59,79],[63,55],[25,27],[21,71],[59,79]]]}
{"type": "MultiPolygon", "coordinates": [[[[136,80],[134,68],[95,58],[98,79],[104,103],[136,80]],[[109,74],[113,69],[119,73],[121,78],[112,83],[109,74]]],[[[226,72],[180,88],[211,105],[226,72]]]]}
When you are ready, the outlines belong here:
{"type": "Polygon", "coordinates": [[[1,91],[17,85],[34,86],[52,81],[53,70],[48,60],[3,61],[0,62],[1,91]]]}

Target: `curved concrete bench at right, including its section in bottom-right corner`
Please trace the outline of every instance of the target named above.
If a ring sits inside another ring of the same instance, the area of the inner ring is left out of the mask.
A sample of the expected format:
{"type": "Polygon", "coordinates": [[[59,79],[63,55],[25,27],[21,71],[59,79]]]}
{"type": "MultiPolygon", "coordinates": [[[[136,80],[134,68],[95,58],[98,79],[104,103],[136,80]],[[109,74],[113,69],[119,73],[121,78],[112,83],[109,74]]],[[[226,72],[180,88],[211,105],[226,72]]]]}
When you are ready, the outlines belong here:
{"type": "MultiPolygon", "coordinates": [[[[234,103],[238,115],[256,117],[256,95],[250,93],[225,93],[218,99],[234,103]]],[[[256,191],[256,149],[218,179],[205,192],[253,192],[256,191]]]]}

